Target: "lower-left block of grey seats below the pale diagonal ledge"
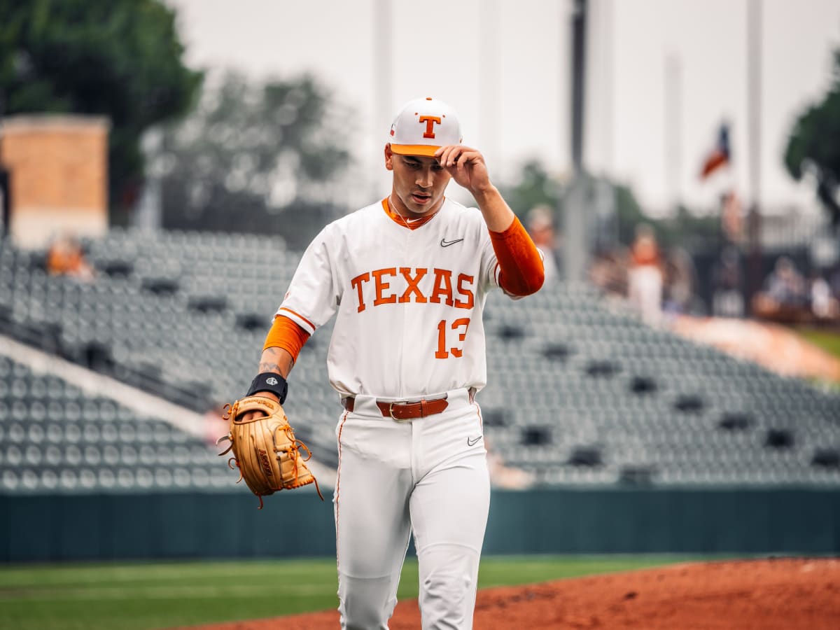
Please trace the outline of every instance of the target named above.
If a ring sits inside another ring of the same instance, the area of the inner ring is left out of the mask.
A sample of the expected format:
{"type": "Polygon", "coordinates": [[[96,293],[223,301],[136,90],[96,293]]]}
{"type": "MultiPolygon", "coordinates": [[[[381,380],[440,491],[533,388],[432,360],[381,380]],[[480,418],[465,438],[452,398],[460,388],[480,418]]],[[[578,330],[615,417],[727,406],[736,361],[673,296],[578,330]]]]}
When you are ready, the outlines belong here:
{"type": "Polygon", "coordinates": [[[165,420],[0,357],[0,491],[209,489],[230,475],[165,420]]]}

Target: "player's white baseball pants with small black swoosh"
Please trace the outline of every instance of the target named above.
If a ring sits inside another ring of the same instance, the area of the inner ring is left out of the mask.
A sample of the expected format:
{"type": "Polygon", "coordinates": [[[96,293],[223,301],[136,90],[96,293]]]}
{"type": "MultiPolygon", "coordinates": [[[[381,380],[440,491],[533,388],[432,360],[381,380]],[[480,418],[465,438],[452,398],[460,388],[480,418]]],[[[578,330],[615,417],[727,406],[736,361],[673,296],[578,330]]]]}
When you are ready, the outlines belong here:
{"type": "Polygon", "coordinates": [[[346,630],[387,630],[412,531],[423,630],[472,627],[490,477],[478,404],[466,390],[447,400],[444,412],[395,422],[358,396],[339,420],[333,504],[346,630]]]}

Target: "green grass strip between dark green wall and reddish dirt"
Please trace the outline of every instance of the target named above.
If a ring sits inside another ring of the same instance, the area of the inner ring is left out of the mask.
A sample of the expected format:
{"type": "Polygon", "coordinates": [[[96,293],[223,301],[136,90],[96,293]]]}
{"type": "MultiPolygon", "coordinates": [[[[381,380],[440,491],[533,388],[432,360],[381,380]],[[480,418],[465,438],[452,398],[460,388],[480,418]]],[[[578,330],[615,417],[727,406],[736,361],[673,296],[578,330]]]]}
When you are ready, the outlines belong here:
{"type": "MultiPolygon", "coordinates": [[[[641,569],[676,556],[486,557],[479,587],[641,569]]],[[[0,567],[0,627],[151,630],[335,608],[333,559],[0,567]],[[282,593],[282,595],[280,595],[282,593]]],[[[417,560],[398,593],[417,596],[417,560]]]]}

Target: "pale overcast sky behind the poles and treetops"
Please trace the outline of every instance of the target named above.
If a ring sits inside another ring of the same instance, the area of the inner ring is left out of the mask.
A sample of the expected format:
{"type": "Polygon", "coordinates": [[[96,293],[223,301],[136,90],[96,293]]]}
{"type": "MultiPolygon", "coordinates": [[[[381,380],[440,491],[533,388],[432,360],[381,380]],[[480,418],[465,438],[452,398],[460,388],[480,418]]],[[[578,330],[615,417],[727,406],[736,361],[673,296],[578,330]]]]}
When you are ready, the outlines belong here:
{"type": "MultiPolygon", "coordinates": [[[[333,89],[365,165],[351,204],[385,185],[391,116],[414,97],[457,108],[465,144],[486,153],[499,181],[532,157],[560,176],[570,170],[571,0],[165,1],[179,11],[190,64],[260,79],[311,71],[333,89]],[[389,12],[383,34],[376,16],[389,12]]],[[[675,191],[692,207],[715,207],[730,182],[749,198],[747,6],[590,0],[585,164],[631,184],[653,213],[675,191]],[[733,168],[701,182],[723,118],[733,168]]],[[[840,0],[764,0],[762,13],[760,199],[765,209],[813,207],[811,186],[790,180],[782,151],[798,113],[829,85],[840,0]]]]}

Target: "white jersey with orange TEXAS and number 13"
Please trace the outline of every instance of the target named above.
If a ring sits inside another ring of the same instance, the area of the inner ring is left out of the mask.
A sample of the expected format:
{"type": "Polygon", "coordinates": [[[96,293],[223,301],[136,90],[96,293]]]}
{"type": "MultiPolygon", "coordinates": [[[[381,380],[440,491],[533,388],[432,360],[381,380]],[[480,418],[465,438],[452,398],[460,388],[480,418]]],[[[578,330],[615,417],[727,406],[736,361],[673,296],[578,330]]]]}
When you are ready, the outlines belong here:
{"type": "Polygon", "coordinates": [[[313,333],[336,314],[328,376],[342,396],[396,400],[486,385],[487,291],[498,265],[480,210],[444,199],[409,229],[386,200],[330,223],[277,313],[313,333]]]}

